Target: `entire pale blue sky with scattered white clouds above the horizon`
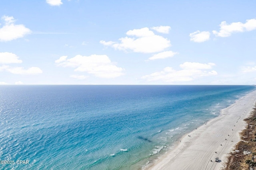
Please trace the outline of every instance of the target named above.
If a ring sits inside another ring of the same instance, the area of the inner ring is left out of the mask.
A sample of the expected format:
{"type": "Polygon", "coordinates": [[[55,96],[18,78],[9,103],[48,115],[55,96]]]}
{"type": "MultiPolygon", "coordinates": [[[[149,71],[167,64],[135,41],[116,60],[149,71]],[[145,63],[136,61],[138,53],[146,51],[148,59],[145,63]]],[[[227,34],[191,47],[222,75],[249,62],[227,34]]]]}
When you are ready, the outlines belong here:
{"type": "Polygon", "coordinates": [[[0,84],[256,84],[255,0],[1,0],[0,84]]]}

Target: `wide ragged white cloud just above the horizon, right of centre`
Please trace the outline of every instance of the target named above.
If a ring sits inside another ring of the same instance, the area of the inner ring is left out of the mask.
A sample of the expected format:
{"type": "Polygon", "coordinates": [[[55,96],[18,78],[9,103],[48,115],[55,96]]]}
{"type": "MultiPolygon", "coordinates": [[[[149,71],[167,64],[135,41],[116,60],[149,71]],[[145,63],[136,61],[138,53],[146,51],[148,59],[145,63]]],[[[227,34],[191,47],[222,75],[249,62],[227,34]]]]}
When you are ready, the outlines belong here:
{"type": "Polygon", "coordinates": [[[164,82],[187,82],[204,76],[214,76],[218,73],[215,70],[206,71],[212,68],[214,63],[190,63],[180,64],[182,70],[174,70],[172,67],[166,67],[160,72],[154,72],[149,75],[142,76],[147,81],[164,81],[164,82]]]}

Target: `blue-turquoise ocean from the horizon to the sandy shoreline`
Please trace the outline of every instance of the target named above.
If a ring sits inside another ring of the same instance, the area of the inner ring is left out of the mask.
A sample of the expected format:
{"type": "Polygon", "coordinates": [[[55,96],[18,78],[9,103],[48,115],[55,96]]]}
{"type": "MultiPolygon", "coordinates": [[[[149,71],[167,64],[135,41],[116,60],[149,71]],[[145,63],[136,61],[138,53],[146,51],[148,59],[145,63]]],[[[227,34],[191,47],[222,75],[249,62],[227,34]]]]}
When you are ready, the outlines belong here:
{"type": "Polygon", "coordinates": [[[1,170],[140,170],[255,86],[0,86],[1,170]]]}

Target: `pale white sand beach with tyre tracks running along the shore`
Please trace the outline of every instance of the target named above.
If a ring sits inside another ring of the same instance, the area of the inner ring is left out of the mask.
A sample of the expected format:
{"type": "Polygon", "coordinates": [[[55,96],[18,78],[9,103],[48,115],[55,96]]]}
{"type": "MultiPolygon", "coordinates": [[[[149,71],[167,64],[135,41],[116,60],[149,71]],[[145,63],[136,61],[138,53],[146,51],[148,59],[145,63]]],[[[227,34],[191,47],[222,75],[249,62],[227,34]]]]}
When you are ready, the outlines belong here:
{"type": "Polygon", "coordinates": [[[220,170],[224,167],[228,153],[240,141],[239,133],[246,128],[243,119],[250,115],[255,101],[256,91],[222,109],[219,117],[184,135],[177,147],[167,152],[149,169],[220,170]],[[219,158],[219,162],[215,162],[215,157],[219,158]]]}

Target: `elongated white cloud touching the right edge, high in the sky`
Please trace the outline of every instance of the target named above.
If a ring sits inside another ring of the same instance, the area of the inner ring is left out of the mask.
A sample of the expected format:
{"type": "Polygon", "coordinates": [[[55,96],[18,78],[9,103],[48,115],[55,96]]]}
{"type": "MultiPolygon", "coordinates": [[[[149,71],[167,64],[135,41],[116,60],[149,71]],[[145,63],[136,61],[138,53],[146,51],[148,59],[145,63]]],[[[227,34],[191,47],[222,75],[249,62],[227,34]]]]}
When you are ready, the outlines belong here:
{"type": "Polygon", "coordinates": [[[256,19],[246,20],[246,23],[233,22],[231,24],[222,21],[220,23],[220,31],[212,31],[217,37],[229,37],[232,33],[252,31],[256,29],[256,19]]]}

